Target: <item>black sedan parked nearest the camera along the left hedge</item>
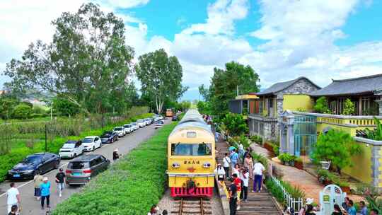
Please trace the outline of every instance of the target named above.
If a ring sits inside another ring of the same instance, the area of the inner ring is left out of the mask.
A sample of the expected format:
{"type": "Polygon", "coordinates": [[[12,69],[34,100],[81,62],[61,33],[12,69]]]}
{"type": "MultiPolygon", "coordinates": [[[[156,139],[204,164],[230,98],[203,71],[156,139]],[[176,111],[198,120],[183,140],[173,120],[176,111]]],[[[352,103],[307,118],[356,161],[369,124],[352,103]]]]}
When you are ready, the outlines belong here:
{"type": "Polygon", "coordinates": [[[35,153],[8,171],[8,179],[33,178],[37,173],[43,174],[59,168],[61,158],[55,153],[35,153]]]}

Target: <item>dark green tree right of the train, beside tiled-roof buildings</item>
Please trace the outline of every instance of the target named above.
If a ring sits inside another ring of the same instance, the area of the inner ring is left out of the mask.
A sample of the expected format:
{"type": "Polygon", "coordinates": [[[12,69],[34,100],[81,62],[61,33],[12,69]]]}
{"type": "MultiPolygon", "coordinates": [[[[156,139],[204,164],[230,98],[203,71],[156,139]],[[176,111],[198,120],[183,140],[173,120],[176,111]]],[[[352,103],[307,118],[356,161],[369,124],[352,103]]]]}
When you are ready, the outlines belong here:
{"type": "Polygon", "coordinates": [[[212,115],[223,117],[228,112],[228,100],[235,98],[237,93],[258,92],[259,81],[252,67],[229,62],[226,63],[226,69],[214,68],[208,91],[202,85],[199,86],[199,93],[211,104],[212,115]]]}

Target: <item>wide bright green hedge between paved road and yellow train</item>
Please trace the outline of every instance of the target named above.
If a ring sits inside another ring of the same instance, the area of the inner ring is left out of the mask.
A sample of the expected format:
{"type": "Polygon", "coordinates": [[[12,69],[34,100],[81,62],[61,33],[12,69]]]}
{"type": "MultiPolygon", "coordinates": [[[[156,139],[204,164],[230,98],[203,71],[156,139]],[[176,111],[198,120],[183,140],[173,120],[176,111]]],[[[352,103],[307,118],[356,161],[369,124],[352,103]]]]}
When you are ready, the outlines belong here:
{"type": "Polygon", "coordinates": [[[53,214],[147,214],[166,187],[167,138],[176,123],[158,133],[110,166],[53,214]]]}

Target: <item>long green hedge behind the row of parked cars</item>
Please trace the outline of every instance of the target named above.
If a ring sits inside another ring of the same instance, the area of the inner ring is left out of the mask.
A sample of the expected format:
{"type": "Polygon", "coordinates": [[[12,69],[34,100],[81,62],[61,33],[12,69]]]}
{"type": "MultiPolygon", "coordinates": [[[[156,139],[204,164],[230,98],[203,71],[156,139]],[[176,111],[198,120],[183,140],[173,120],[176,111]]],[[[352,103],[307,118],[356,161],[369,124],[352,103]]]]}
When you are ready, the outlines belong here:
{"type": "MultiPolygon", "coordinates": [[[[93,135],[99,136],[104,131],[111,130],[113,127],[117,125],[127,124],[129,122],[135,122],[138,119],[151,117],[151,116],[152,116],[151,113],[137,115],[136,117],[131,117],[128,120],[125,120],[123,122],[109,124],[108,126],[105,126],[103,129],[93,129],[91,131],[81,132],[79,136],[57,137],[53,139],[53,141],[48,143],[48,151],[53,153],[58,153],[62,145],[69,139],[82,139],[85,136],[93,136],[93,135]]],[[[3,182],[6,179],[8,170],[10,170],[13,167],[13,165],[16,165],[16,163],[22,161],[23,158],[25,158],[25,156],[28,156],[32,153],[42,152],[42,151],[45,151],[45,141],[39,141],[33,144],[33,148],[28,148],[27,146],[15,146],[13,149],[11,149],[10,153],[1,155],[0,156],[0,182],[3,182]]]]}

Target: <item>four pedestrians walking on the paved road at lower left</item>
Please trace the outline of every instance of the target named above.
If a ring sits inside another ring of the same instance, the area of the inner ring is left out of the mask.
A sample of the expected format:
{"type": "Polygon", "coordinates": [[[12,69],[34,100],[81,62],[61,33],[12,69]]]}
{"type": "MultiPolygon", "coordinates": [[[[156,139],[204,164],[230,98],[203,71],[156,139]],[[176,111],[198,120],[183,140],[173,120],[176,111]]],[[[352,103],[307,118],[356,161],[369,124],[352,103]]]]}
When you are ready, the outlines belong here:
{"type": "MultiPolygon", "coordinates": [[[[62,168],[59,169],[59,173],[57,173],[55,181],[57,183],[57,194],[59,197],[62,197],[62,191],[65,188],[65,178],[66,175],[64,173],[64,170],[62,168]]],[[[34,196],[37,199],[37,201],[41,204],[41,209],[45,209],[45,203],[46,207],[50,209],[50,190],[51,185],[50,181],[47,177],[43,177],[40,174],[36,174],[33,178],[33,184],[34,184],[34,196]]],[[[21,195],[18,189],[16,188],[16,184],[14,182],[11,182],[10,184],[11,188],[7,190],[7,214],[8,215],[14,215],[14,214],[20,214],[21,211],[21,195]]]]}

